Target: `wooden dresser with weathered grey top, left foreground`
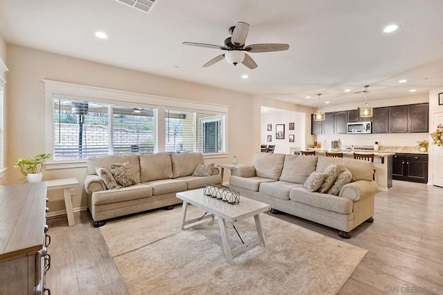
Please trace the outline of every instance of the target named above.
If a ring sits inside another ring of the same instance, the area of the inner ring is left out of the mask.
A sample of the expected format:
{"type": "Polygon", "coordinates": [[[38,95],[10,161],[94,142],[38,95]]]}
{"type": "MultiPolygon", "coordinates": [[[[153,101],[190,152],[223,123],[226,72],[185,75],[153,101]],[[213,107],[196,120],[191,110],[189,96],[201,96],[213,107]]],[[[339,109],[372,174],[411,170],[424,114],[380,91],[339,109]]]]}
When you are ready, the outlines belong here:
{"type": "Polygon", "coordinates": [[[50,293],[46,182],[0,187],[0,216],[0,294],[50,293]]]}

